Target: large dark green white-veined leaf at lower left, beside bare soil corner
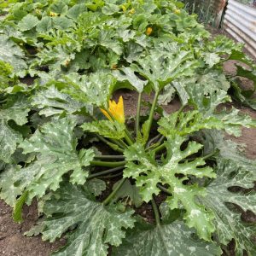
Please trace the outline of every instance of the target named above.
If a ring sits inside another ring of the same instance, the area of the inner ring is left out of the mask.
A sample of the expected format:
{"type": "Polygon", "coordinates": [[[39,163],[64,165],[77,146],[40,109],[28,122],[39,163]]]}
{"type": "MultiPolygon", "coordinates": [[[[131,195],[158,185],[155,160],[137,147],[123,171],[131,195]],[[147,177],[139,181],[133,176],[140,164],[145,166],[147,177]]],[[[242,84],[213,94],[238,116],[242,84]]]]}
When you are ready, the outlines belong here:
{"type": "Polygon", "coordinates": [[[67,235],[67,245],[54,255],[107,255],[108,244],[119,246],[125,229],[133,227],[132,210],[120,213],[90,197],[79,186],[62,184],[44,204],[44,213],[49,216],[42,224],[44,240],[55,241],[67,230],[74,229],[67,235]]]}

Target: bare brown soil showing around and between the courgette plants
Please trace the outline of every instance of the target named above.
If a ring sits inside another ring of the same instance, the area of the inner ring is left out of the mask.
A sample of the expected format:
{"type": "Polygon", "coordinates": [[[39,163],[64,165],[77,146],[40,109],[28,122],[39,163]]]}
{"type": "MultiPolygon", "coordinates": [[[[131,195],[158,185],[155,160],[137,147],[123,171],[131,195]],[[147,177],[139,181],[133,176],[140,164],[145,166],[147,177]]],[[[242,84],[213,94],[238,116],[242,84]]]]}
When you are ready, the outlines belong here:
{"type": "MultiPolygon", "coordinates": [[[[234,73],[236,66],[234,61],[225,63],[224,68],[227,73],[234,73]]],[[[245,86],[251,86],[251,81],[244,80],[245,86]]],[[[137,106],[137,94],[131,91],[118,91],[114,99],[118,99],[122,95],[125,100],[125,115],[131,116],[136,113],[137,106]]],[[[151,101],[152,97],[145,96],[144,101],[151,101]]],[[[242,113],[248,113],[252,118],[256,119],[256,111],[250,108],[239,106],[236,103],[236,108],[241,109],[242,113]]],[[[171,113],[176,111],[180,107],[180,103],[177,99],[174,99],[172,103],[166,106],[166,112],[171,113]]],[[[146,111],[146,108],[143,108],[146,111]]],[[[236,143],[246,144],[245,154],[248,158],[256,160],[256,129],[242,129],[241,137],[231,137],[236,143]]],[[[157,200],[158,201],[158,200],[157,200]]],[[[143,207],[137,212],[149,218],[153,215],[151,206],[143,205],[143,207]]],[[[37,204],[33,203],[31,207],[25,207],[23,211],[23,218],[25,219],[22,224],[15,224],[12,220],[12,209],[7,206],[3,201],[0,201],[0,255],[3,256],[49,256],[51,252],[54,252],[58,247],[65,244],[65,240],[61,239],[54,243],[48,241],[42,241],[40,236],[26,237],[23,236],[24,232],[30,230],[33,224],[38,219],[37,204]]]]}

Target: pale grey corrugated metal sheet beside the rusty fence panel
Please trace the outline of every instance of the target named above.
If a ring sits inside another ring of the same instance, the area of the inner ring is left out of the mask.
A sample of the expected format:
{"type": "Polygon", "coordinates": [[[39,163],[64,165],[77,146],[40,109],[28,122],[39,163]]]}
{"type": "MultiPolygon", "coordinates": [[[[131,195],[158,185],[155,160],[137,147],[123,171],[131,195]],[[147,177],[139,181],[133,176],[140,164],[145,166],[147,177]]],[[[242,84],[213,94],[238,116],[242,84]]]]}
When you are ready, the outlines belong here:
{"type": "Polygon", "coordinates": [[[256,58],[256,9],[235,0],[229,0],[224,15],[224,31],[256,58]]]}

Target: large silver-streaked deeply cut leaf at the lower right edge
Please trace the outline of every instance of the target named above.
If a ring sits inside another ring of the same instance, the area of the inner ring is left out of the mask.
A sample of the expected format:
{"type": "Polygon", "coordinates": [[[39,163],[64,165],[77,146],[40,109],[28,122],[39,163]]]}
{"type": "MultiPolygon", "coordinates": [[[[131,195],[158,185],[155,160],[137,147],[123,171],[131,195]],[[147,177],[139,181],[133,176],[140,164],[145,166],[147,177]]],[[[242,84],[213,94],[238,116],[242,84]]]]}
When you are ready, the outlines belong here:
{"type": "Polygon", "coordinates": [[[256,253],[256,244],[253,241],[256,225],[241,220],[241,213],[232,210],[227,203],[236,204],[242,211],[250,210],[255,213],[256,195],[255,191],[245,194],[231,192],[230,188],[253,188],[253,181],[256,179],[255,166],[255,163],[252,166],[239,166],[232,160],[219,160],[216,167],[218,177],[209,184],[207,196],[201,200],[215,214],[214,223],[219,241],[228,244],[235,239],[237,255],[243,255],[243,250],[249,255],[256,253]]]}

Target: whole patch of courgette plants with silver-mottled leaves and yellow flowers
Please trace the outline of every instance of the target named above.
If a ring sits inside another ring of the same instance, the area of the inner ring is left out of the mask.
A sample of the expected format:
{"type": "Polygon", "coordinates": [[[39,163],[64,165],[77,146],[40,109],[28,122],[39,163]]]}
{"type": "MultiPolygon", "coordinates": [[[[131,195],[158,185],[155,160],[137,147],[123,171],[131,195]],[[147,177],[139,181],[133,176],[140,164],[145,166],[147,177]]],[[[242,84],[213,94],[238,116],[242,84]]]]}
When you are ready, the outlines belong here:
{"type": "Polygon", "coordinates": [[[241,45],[176,1],[14,2],[0,25],[0,196],[17,222],[38,201],[26,236],[65,236],[53,255],[220,255],[232,240],[255,254],[241,214],[256,212],[256,163],[225,138],[256,125],[229,103],[253,107],[223,71],[242,61],[238,76],[255,78],[241,45]],[[116,90],[135,91],[136,113],[116,90]]]}

